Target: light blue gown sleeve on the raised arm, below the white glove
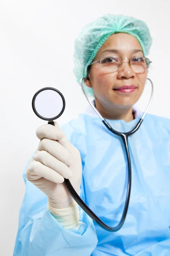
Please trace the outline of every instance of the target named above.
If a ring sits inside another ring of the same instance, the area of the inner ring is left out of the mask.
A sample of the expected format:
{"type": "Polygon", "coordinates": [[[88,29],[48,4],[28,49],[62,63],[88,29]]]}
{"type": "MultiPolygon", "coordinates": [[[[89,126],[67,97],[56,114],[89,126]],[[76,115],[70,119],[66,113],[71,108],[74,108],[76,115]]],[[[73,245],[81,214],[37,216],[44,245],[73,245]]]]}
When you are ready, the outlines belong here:
{"type": "MultiPolygon", "coordinates": [[[[79,209],[79,229],[66,230],[48,211],[47,196],[26,179],[27,166],[13,256],[90,256],[98,242],[92,219],[79,209]]],[[[82,187],[80,190],[83,199],[82,187]]]]}

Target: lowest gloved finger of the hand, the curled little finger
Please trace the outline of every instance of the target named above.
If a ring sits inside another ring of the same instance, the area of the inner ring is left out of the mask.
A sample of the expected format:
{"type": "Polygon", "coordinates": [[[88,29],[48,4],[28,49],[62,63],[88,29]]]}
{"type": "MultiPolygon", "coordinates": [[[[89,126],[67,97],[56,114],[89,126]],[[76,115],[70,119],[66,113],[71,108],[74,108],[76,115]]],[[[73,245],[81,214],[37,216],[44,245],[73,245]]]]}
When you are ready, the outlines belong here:
{"type": "Polygon", "coordinates": [[[37,180],[37,177],[44,177],[46,180],[55,183],[64,182],[64,178],[58,172],[55,172],[53,169],[34,159],[32,159],[31,164],[28,165],[26,177],[29,181],[37,180]]]}

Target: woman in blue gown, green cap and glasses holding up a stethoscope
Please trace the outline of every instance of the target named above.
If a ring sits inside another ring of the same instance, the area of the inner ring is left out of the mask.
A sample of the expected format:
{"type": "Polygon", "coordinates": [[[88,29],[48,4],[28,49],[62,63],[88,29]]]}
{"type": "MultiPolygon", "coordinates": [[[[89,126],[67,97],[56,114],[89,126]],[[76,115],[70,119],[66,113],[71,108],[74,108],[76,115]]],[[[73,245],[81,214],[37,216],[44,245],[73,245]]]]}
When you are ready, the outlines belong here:
{"type": "MultiPolygon", "coordinates": [[[[116,131],[132,130],[141,117],[133,105],[147,79],[151,41],[143,21],[123,15],[100,17],[75,41],[77,81],[84,77],[96,109],[116,131]]],[[[92,108],[62,129],[55,122],[40,126],[36,134],[40,144],[23,174],[26,195],[14,256],[170,255],[169,119],[147,114],[129,137],[130,203],[116,233],[93,222],[63,181],[70,179],[96,215],[116,226],[127,190],[121,138],[108,131],[92,108]]]]}

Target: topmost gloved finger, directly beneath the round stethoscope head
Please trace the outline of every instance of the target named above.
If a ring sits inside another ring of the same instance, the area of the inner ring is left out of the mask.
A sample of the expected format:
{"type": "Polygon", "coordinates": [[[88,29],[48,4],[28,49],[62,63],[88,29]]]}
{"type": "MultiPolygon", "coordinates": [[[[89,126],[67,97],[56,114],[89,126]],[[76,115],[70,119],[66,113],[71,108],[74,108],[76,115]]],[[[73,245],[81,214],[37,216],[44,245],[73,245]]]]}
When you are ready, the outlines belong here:
{"type": "Polygon", "coordinates": [[[54,122],[54,125],[41,125],[36,130],[37,137],[42,140],[44,138],[50,139],[50,140],[61,140],[64,137],[64,132],[61,128],[59,128],[59,125],[57,122],[54,122]]]}

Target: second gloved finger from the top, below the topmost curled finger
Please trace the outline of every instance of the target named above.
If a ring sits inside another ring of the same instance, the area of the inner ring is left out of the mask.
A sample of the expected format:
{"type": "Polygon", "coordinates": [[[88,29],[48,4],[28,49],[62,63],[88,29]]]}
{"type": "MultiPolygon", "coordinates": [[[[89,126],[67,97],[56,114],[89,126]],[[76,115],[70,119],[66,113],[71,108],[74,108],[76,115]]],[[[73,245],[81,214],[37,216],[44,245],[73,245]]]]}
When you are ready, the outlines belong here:
{"type": "Polygon", "coordinates": [[[68,150],[55,140],[44,138],[40,141],[37,150],[45,150],[62,163],[65,163],[68,167],[71,165],[71,159],[68,150]]]}

